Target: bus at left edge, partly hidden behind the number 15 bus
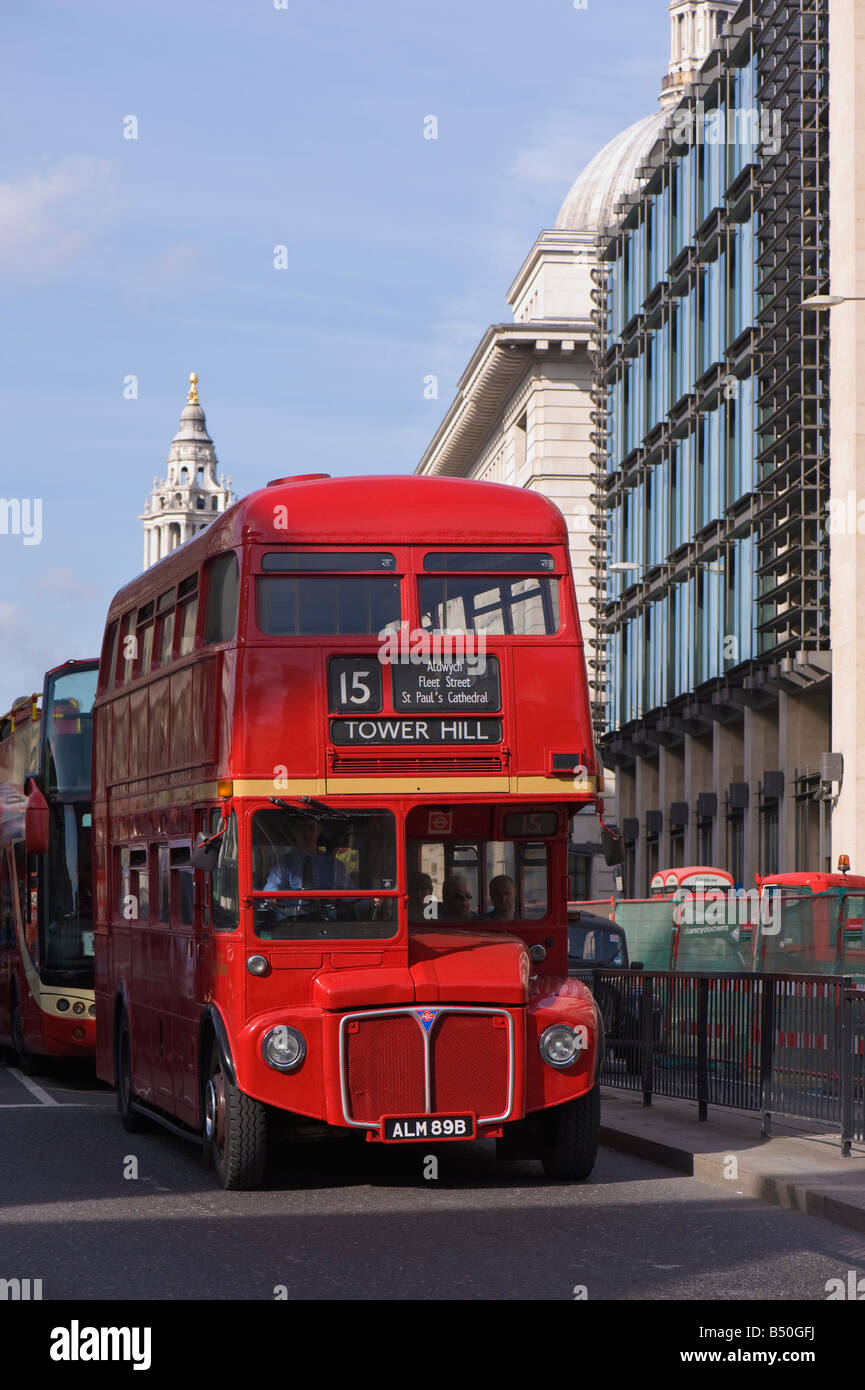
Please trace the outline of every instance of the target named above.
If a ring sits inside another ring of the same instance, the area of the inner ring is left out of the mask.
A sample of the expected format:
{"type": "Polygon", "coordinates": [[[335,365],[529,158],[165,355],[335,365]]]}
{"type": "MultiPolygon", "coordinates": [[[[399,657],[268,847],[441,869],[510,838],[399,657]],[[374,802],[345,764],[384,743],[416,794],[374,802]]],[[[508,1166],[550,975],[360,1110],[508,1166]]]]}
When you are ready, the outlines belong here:
{"type": "Polygon", "coordinates": [[[95,1048],[90,749],[97,662],[0,719],[0,1042],[25,1074],[95,1048]]]}

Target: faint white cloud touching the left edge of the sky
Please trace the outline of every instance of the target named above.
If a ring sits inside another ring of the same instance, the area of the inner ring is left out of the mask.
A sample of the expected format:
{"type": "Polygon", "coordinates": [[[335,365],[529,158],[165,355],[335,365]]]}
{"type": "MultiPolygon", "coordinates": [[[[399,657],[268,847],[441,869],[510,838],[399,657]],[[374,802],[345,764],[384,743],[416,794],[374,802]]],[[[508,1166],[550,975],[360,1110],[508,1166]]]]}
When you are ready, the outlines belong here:
{"type": "Polygon", "coordinates": [[[43,278],[103,229],[113,203],[108,160],[72,156],[0,183],[0,271],[43,278]]]}

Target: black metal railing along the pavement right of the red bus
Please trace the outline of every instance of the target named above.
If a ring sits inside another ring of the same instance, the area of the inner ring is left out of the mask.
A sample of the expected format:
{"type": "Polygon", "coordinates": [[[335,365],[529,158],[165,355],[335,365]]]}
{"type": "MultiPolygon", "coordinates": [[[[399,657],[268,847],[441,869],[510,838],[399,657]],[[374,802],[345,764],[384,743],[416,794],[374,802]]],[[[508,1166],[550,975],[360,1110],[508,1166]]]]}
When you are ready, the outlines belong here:
{"type": "Polygon", "coordinates": [[[865,990],[801,974],[585,970],[606,1034],[605,1086],[834,1125],[865,1141],[865,990]]]}

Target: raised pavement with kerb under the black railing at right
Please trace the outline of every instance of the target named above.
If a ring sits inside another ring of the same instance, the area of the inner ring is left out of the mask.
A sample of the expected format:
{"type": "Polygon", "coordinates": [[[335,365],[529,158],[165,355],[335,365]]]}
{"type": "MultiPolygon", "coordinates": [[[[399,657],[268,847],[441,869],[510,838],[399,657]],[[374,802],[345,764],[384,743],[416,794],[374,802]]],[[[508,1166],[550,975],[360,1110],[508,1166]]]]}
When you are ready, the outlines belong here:
{"type": "Polygon", "coordinates": [[[787,1211],[820,1216],[865,1232],[865,1145],[841,1156],[841,1136],[829,1126],[772,1116],[772,1137],[761,1136],[759,1115],[604,1087],[601,1143],[651,1159],[712,1187],[758,1197],[787,1211]]]}

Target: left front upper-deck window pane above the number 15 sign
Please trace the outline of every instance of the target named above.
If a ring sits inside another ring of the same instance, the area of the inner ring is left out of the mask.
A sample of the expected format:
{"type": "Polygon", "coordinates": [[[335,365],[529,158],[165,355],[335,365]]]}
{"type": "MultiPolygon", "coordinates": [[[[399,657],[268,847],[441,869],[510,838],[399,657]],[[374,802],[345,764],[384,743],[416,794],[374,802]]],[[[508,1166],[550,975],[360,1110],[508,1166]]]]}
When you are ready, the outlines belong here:
{"type": "Polygon", "coordinates": [[[399,627],[399,580],[306,578],[257,580],[259,627],[268,637],[366,637],[399,627]]]}

